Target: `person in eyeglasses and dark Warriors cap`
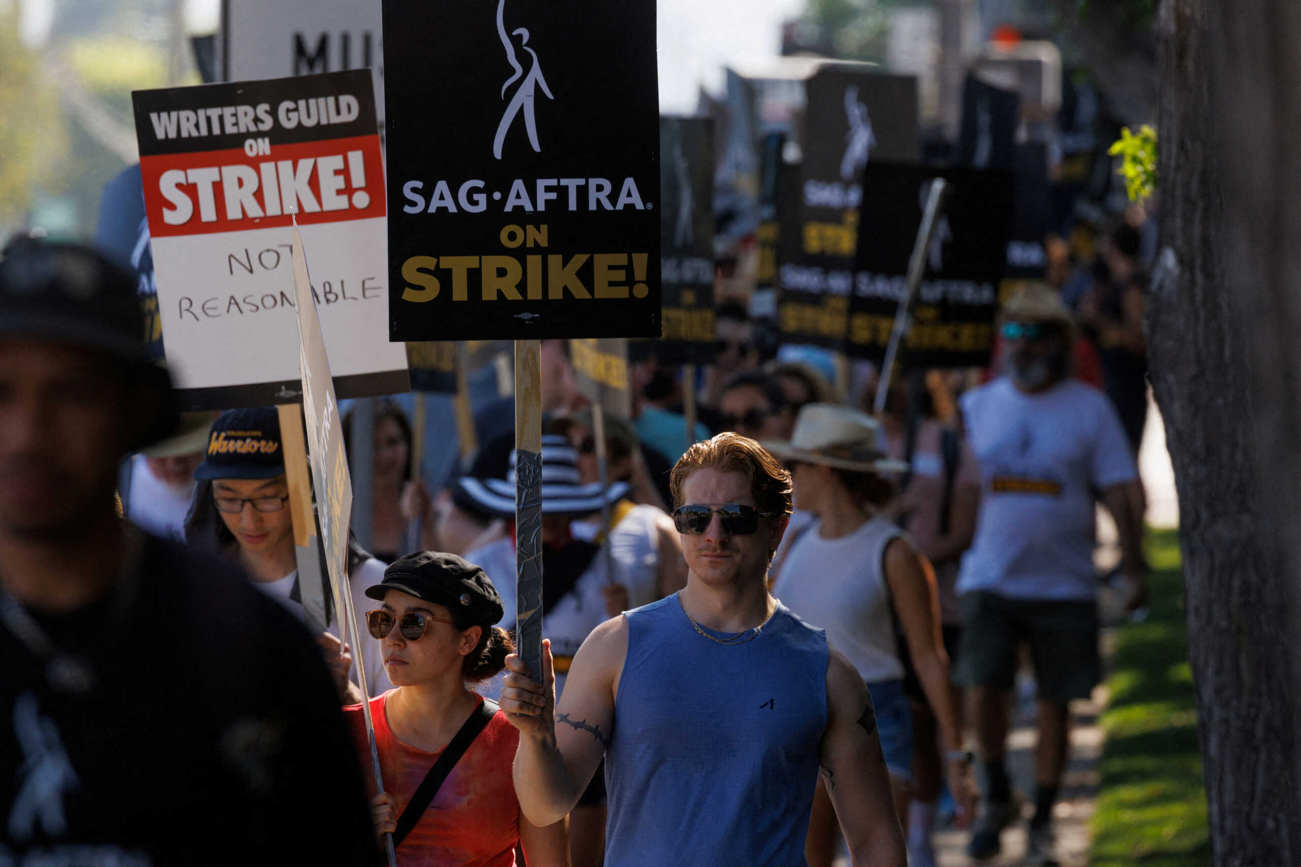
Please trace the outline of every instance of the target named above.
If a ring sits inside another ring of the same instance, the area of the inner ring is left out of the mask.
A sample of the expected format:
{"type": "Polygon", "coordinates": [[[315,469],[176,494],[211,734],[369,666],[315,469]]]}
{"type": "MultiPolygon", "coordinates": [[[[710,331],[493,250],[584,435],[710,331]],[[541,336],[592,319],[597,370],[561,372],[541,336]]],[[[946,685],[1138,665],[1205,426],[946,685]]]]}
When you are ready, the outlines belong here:
{"type": "MultiPolygon", "coordinates": [[[[226,410],[212,423],[203,462],[194,471],[199,482],[195,504],[186,521],[186,539],[200,549],[233,556],[254,586],[303,616],[294,549],[294,518],[280,441],[280,414],[275,406],[226,410]],[[216,519],[213,519],[213,512],[216,519]]],[[[362,591],[380,581],[384,564],[358,548],[349,549],[349,575],[354,611],[366,611],[362,591]]],[[[359,702],[351,648],[341,651],[342,612],[334,612],[320,644],[345,700],[359,702]]],[[[375,695],[389,682],[379,643],[363,650],[366,682],[375,695]]]]}

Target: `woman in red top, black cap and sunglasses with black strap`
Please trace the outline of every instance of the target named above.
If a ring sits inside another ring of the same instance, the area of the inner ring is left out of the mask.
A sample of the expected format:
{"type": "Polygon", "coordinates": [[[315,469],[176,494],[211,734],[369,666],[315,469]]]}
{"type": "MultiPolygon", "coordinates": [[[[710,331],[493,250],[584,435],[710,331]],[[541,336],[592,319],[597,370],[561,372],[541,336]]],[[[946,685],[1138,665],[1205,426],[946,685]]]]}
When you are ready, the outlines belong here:
{"type": "MultiPolygon", "coordinates": [[[[510,635],[493,626],[502,605],[492,581],[455,555],[401,557],[366,595],[382,603],[367,612],[367,630],[380,639],[396,686],[371,699],[384,780],[381,794],[369,781],[371,815],[382,845],[442,750],[483,703],[470,685],[501,672],[514,648],[510,635]]],[[[345,711],[362,765],[373,768],[362,706],[345,711]]],[[[513,867],[516,845],[528,867],[567,867],[565,823],[539,828],[520,815],[511,777],[518,743],[518,730],[494,713],[398,844],[399,867],[513,867]]]]}

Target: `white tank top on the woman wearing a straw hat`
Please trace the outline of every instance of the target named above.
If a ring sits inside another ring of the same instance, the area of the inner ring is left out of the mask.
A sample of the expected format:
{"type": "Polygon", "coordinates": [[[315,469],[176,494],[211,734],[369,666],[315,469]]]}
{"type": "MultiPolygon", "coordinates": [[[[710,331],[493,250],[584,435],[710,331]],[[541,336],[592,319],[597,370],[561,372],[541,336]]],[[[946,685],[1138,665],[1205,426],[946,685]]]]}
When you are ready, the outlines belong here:
{"type": "Polygon", "coordinates": [[[814,521],[791,547],[773,595],[825,629],[868,683],[902,678],[883,566],[886,547],[905,534],[885,518],[839,539],[821,538],[821,526],[814,521]]]}

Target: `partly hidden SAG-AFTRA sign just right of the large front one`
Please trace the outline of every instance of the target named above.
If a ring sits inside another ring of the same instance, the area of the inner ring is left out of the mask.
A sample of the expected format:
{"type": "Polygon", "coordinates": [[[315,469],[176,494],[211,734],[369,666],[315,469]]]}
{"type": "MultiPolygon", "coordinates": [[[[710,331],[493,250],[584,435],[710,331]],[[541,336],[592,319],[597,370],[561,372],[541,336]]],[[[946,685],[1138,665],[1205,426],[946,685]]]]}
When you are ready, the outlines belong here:
{"type": "Polygon", "coordinates": [[[705,365],[714,355],[713,121],[660,118],[660,267],[665,365],[705,365]]]}

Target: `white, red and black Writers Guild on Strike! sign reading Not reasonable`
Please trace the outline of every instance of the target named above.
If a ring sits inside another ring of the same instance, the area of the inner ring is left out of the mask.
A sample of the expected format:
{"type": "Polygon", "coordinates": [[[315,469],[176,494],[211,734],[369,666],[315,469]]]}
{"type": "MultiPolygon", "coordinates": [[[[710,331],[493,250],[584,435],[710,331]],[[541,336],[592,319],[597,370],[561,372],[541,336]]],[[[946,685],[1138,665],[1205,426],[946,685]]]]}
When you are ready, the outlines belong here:
{"type": "Polygon", "coordinates": [[[406,391],[388,342],[384,165],[367,70],[137,91],[173,378],[193,407],[297,400],[290,215],[341,397],[406,391]]]}

